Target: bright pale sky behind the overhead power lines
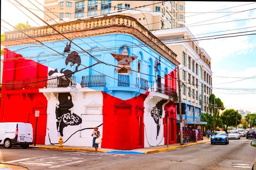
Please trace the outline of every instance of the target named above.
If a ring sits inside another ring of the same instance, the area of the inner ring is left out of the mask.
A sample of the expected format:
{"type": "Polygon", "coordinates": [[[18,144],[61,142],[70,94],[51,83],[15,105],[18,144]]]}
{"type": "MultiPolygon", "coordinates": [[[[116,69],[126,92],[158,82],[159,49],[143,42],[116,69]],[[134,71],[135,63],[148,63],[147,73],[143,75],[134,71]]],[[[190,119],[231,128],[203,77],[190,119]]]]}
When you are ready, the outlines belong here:
{"type": "MultiPolygon", "coordinates": [[[[26,21],[29,21],[29,24],[35,27],[43,25],[42,21],[37,19],[30,12],[23,9],[23,11],[27,15],[35,20],[35,22],[28,18],[25,14],[20,12],[14,5],[12,5],[8,1],[9,0],[1,0],[1,19],[9,22],[14,26],[18,23],[26,23],[26,21]]],[[[14,0],[10,1],[14,2],[14,0]]],[[[43,7],[37,4],[35,0],[29,1],[33,2],[33,4],[36,4],[37,7],[43,9],[43,7]]],[[[26,7],[35,9],[35,6],[29,1],[19,0],[19,2],[26,7]]],[[[37,1],[41,4],[44,3],[44,0],[37,1]]],[[[255,8],[256,2],[186,1],[186,26],[189,28],[195,38],[198,39],[199,37],[212,35],[220,35],[218,37],[222,37],[232,35],[256,34],[256,31],[254,31],[256,30],[256,19],[251,19],[256,18],[255,8]],[[237,32],[245,33],[230,34],[237,32]]],[[[32,11],[41,18],[43,18],[42,12],[35,10],[32,11]]],[[[1,21],[1,34],[4,31],[7,31],[7,29],[13,30],[12,27],[1,21]]],[[[244,35],[229,38],[200,40],[199,46],[203,48],[211,57],[213,86],[212,93],[214,93],[216,97],[219,97],[222,100],[225,108],[227,109],[244,109],[244,111],[248,110],[256,113],[256,35],[244,35]]]]}

